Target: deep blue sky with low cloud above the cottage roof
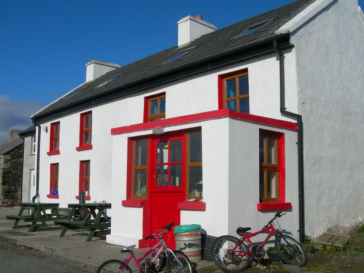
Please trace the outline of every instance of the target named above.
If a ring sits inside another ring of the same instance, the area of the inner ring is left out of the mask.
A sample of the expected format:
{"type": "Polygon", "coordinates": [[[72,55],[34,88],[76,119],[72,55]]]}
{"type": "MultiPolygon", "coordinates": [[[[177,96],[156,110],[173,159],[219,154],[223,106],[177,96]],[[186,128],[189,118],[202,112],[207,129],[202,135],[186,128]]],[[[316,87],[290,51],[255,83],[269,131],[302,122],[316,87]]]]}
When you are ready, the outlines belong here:
{"type": "Polygon", "coordinates": [[[169,48],[187,15],[222,28],[292,1],[1,0],[0,143],[82,83],[88,61],[123,66],[169,48]]]}

